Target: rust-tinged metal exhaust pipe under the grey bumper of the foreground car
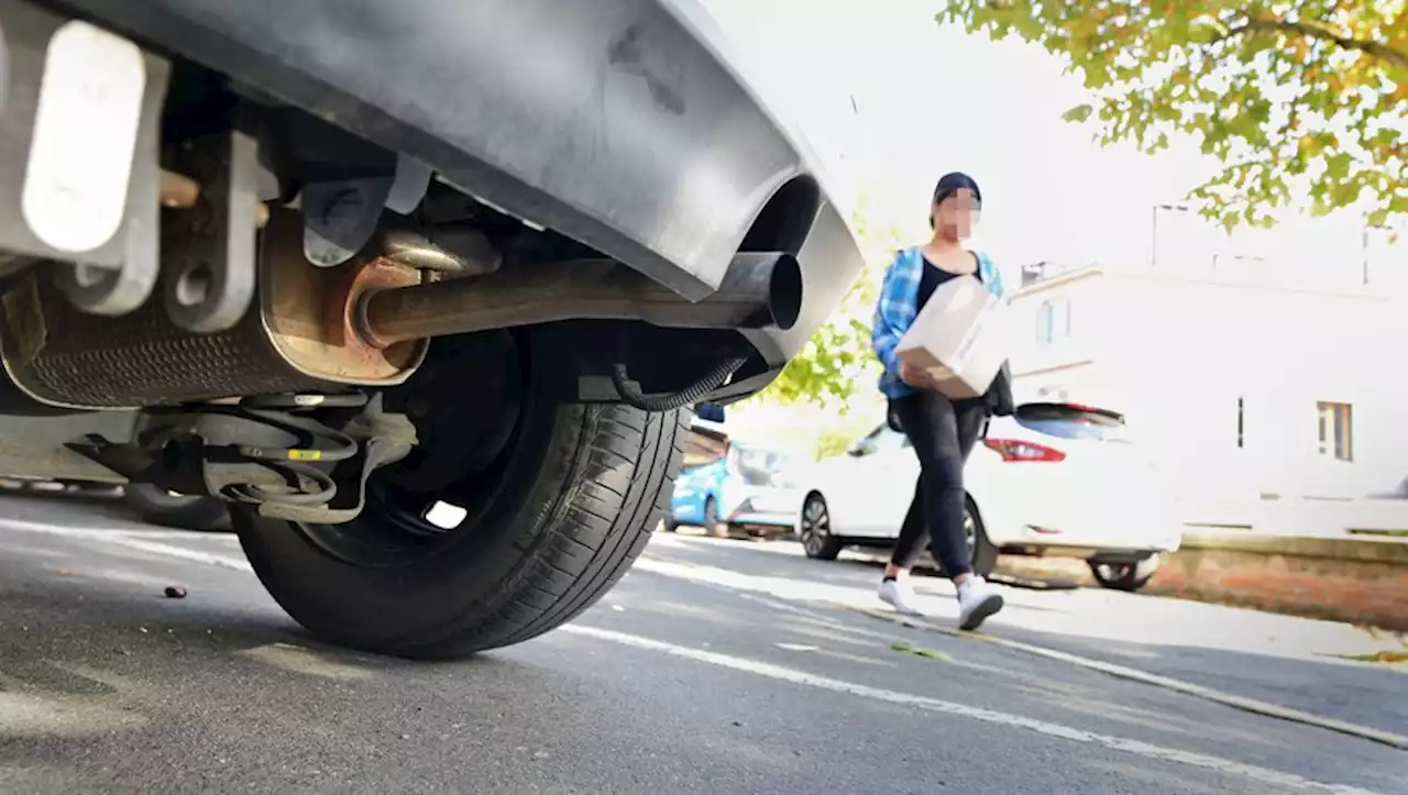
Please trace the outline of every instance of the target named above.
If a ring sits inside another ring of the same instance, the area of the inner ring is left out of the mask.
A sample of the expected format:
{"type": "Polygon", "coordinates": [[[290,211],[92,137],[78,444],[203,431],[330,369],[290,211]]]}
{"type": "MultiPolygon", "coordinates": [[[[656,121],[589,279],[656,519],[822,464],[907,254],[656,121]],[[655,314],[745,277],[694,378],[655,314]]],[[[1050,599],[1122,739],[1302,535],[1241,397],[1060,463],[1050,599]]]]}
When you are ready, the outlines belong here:
{"type": "Polygon", "coordinates": [[[741,253],[718,290],[689,301],[610,259],[548,262],[484,276],[369,293],[355,328],[384,348],[410,339],[570,319],[634,319],[672,328],[783,331],[801,314],[801,266],[790,253],[741,253]]]}

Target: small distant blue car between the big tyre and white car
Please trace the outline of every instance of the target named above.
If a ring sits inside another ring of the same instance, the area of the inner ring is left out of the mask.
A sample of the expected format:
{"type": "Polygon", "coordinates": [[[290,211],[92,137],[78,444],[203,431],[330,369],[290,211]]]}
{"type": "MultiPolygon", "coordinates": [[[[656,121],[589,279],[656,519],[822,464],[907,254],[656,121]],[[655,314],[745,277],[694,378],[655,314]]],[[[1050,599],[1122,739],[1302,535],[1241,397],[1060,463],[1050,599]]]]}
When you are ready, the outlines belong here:
{"type": "MultiPolygon", "coordinates": [[[[697,422],[694,431],[701,436],[711,429],[697,422]]],[[[715,456],[708,456],[707,443],[693,446],[698,454],[686,460],[674,481],[666,529],[693,525],[715,536],[793,530],[803,495],[788,478],[787,456],[736,439],[721,446],[715,456]]]]}

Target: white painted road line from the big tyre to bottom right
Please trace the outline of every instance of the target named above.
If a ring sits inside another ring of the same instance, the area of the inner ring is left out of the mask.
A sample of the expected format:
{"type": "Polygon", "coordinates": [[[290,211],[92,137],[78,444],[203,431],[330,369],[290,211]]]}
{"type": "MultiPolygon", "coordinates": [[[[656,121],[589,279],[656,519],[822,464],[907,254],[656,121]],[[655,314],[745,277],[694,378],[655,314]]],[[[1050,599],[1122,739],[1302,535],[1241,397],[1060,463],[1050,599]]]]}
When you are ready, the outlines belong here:
{"type": "Polygon", "coordinates": [[[848,682],[842,680],[834,680],[829,677],[821,677],[817,674],[798,671],[796,668],[776,666],[773,663],[749,660],[746,657],[734,657],[731,654],[719,654],[718,651],[690,649],[687,646],[677,646],[674,643],[666,643],[663,640],[653,640],[649,637],[641,637],[624,632],[615,632],[610,629],[600,629],[596,626],[582,626],[582,625],[563,626],[559,629],[559,632],[580,635],[583,637],[593,637],[596,640],[605,640],[610,643],[618,643],[621,646],[631,646],[648,651],[659,651],[662,654],[669,654],[672,657],[681,657],[686,660],[693,660],[696,663],[704,663],[708,666],[717,666],[721,668],[729,668],[734,671],[742,671],[746,674],[755,674],[759,677],[766,677],[770,680],[791,682],[797,685],[812,687],[831,692],[842,692],[860,698],[869,698],[872,701],[883,701],[886,704],[912,706],[929,712],[943,712],[946,715],[969,718],[973,720],[981,720],[984,723],[994,723],[998,726],[1008,726],[1012,729],[1025,729],[1029,732],[1036,732],[1038,734],[1046,734],[1049,737],[1060,737],[1063,740],[1070,740],[1074,743],[1102,746],[1111,750],[1135,754],[1149,760],[1184,764],[1188,767],[1197,767],[1225,775],[1235,775],[1249,781],[1256,781],[1259,784],[1269,784],[1286,789],[1309,791],[1309,792],[1336,792],[1340,795],[1373,795],[1371,789],[1362,789],[1357,787],[1349,787],[1343,784],[1328,784],[1322,781],[1312,781],[1309,778],[1302,778],[1291,772],[1281,772],[1277,770],[1270,770],[1253,764],[1245,764],[1222,757],[1198,754],[1193,751],[1170,749],[1166,746],[1156,746],[1153,743],[1145,743],[1142,740],[1131,740],[1128,737],[1117,737],[1114,734],[1100,734],[1095,732],[1087,732],[1084,729],[1076,729],[1073,726],[1063,726],[1060,723],[1049,723],[1046,720],[1036,720],[1033,718],[1022,718],[1021,715],[998,712],[995,709],[983,709],[980,706],[969,706],[966,704],[942,701],[938,698],[929,698],[926,695],[917,695],[917,694],[884,689],[856,682],[848,682]]]}

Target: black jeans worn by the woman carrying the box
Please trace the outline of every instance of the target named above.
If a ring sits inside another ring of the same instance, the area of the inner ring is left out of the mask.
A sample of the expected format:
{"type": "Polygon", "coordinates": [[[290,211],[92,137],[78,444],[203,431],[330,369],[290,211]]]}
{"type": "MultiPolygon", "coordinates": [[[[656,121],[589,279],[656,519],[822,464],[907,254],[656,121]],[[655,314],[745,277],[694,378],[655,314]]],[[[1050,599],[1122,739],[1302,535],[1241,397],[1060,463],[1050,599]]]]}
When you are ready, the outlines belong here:
{"type": "Polygon", "coordinates": [[[986,404],[921,391],[890,401],[890,411],[919,457],[919,478],[890,563],[912,567],[928,530],[929,549],[945,575],[973,571],[963,533],[963,464],[987,419],[986,404]]]}

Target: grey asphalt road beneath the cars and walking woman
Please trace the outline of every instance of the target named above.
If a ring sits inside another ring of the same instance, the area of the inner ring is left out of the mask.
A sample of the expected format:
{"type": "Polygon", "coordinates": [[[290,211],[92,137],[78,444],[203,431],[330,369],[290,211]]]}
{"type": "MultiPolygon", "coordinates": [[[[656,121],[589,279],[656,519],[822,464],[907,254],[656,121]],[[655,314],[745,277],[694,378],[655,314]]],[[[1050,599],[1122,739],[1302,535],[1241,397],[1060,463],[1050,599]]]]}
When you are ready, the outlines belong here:
{"type": "MultiPolygon", "coordinates": [[[[3,792],[1408,792],[1408,751],[867,615],[873,564],[791,545],[658,535],[572,626],[458,664],[322,646],[232,538],[106,502],[0,498],[0,546],[3,792]]],[[[1008,597],[990,637],[1408,733],[1408,675],[1326,656],[1397,639],[1008,597]]]]}

